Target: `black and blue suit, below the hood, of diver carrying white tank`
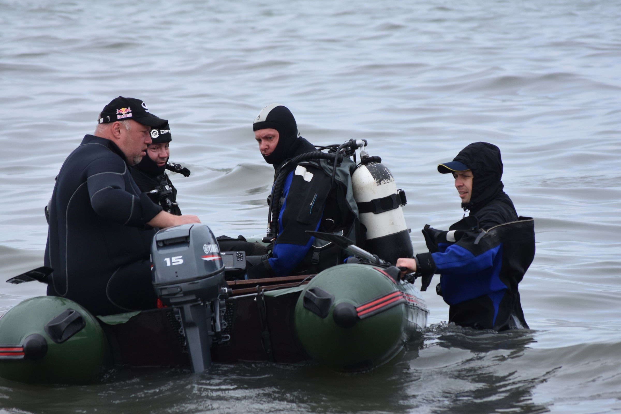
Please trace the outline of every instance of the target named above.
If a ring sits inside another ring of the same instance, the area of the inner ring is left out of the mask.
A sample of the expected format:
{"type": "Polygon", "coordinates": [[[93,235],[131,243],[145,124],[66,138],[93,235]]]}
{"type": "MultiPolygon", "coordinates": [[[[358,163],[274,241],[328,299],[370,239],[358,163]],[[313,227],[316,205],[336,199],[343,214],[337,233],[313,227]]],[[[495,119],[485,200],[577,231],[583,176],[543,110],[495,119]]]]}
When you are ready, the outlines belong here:
{"type": "Polygon", "coordinates": [[[350,237],[361,233],[356,232],[358,207],[351,186],[356,164],[341,155],[334,171],[334,156],[320,151],[304,153],[276,171],[268,198],[270,227],[264,241],[274,243],[269,261],[278,276],[317,273],[343,262],[344,251],[318,239],[311,243],[306,230],[350,237]],[[308,243],[311,245],[302,248],[308,243]],[[299,253],[304,256],[292,270],[281,268],[299,253]]]}

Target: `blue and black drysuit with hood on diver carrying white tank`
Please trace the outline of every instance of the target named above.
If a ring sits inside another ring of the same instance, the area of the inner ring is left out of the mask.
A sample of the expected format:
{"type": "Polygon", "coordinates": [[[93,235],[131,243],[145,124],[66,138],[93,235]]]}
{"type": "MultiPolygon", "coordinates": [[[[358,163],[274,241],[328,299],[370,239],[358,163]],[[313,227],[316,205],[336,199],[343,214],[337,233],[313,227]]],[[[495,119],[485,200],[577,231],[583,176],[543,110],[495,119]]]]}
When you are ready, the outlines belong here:
{"type": "MultiPolygon", "coordinates": [[[[261,110],[253,130],[265,128],[279,133],[273,153],[263,156],[276,170],[274,179],[284,161],[316,151],[314,145],[299,136],[293,114],[282,105],[271,104],[261,110]]],[[[324,161],[303,161],[288,174],[280,199],[283,204],[278,217],[278,237],[271,254],[248,269],[249,279],[316,273],[342,263],[340,249],[332,245],[315,246],[315,238],[306,233],[306,230],[343,230],[347,235],[358,214],[345,196],[348,189],[351,192],[351,172],[355,163],[343,157],[337,168],[337,179],[332,184],[329,174],[332,166],[324,161]]]]}

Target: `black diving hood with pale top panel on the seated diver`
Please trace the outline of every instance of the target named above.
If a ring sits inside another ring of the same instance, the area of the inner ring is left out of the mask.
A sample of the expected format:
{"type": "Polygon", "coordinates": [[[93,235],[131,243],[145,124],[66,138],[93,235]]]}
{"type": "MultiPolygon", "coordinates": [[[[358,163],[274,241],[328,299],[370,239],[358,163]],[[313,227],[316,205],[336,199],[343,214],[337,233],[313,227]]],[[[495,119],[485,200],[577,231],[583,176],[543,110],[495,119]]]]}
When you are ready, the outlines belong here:
{"type": "MultiPolygon", "coordinates": [[[[278,145],[270,155],[263,155],[266,163],[277,168],[291,153],[295,151],[298,140],[301,138],[297,133],[296,119],[291,111],[280,104],[270,104],[261,109],[252,124],[252,130],[273,128],[278,131],[278,145]]],[[[313,148],[314,149],[314,148],[313,148]]]]}

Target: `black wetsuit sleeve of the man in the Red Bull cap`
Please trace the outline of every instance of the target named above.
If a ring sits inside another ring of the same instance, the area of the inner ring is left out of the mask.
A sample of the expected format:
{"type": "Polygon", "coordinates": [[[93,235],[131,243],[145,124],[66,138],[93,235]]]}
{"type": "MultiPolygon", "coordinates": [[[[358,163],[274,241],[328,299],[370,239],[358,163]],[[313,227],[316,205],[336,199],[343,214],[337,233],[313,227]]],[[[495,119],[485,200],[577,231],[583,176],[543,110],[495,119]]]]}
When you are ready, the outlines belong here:
{"type": "Polygon", "coordinates": [[[98,215],[120,225],[143,227],[162,210],[146,194],[126,190],[131,181],[124,161],[120,158],[98,161],[91,163],[86,171],[91,206],[98,215]]]}

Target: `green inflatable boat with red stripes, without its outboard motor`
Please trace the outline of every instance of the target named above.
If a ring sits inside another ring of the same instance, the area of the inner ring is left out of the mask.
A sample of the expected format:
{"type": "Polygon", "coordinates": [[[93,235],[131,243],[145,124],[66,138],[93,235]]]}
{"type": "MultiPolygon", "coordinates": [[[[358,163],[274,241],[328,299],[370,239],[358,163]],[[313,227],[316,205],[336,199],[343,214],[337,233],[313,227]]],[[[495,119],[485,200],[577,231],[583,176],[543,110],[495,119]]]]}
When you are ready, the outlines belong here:
{"type": "MultiPolygon", "coordinates": [[[[418,289],[363,264],[230,287],[212,341],[214,362],[315,359],[338,371],[365,371],[394,358],[427,323],[418,289]]],[[[89,384],[115,365],[191,368],[178,308],[96,318],[71,300],[34,297],[0,318],[4,379],[89,384]]]]}

